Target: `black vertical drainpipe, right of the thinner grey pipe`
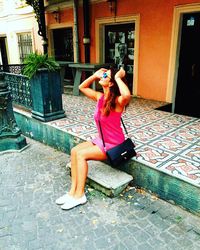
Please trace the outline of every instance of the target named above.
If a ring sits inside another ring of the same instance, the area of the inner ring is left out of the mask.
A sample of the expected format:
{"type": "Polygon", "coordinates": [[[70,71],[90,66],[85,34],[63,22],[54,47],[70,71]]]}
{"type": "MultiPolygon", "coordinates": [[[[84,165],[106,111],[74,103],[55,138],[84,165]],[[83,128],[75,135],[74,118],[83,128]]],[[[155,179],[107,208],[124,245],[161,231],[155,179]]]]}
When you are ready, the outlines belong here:
{"type": "Polygon", "coordinates": [[[85,62],[90,62],[90,10],[89,0],[83,0],[85,62]]]}

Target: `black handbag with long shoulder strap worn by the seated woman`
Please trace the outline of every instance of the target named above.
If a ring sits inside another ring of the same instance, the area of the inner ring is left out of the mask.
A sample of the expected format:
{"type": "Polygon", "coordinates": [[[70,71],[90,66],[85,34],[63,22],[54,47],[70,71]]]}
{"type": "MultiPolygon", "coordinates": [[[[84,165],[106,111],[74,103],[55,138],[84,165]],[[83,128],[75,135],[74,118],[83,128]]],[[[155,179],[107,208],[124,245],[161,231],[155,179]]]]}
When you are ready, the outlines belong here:
{"type": "MultiPolygon", "coordinates": [[[[127,132],[127,129],[124,125],[122,118],[121,118],[121,122],[122,122],[124,130],[126,132],[126,135],[128,136],[128,132],[127,132]]],[[[111,166],[116,167],[118,165],[121,165],[121,164],[127,162],[128,160],[130,160],[132,157],[136,156],[136,151],[134,149],[135,144],[132,142],[132,140],[130,138],[127,138],[121,144],[119,144],[119,145],[117,145],[109,150],[106,150],[100,120],[99,120],[99,128],[100,128],[100,132],[101,132],[103,146],[105,148],[106,155],[108,157],[108,160],[109,160],[109,163],[111,166]]]]}

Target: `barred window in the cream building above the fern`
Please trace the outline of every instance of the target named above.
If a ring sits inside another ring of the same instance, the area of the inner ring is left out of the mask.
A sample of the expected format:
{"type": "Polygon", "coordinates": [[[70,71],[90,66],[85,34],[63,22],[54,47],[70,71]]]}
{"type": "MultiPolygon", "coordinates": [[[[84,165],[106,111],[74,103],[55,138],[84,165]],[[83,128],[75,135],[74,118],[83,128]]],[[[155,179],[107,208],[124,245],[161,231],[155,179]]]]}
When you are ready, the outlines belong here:
{"type": "Polygon", "coordinates": [[[33,52],[31,33],[18,34],[20,62],[23,63],[27,55],[33,52]]]}

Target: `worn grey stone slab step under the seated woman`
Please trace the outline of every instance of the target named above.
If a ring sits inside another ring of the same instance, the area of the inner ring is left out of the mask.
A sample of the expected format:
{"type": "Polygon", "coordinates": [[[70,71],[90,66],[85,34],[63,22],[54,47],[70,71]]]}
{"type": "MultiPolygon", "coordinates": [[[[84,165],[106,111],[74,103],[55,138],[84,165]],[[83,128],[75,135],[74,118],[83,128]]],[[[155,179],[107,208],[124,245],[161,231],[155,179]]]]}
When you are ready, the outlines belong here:
{"type": "MultiPolygon", "coordinates": [[[[71,164],[67,164],[67,168],[70,167],[71,164]]],[[[109,197],[118,196],[132,180],[131,175],[104,162],[88,161],[88,185],[109,197]]]]}

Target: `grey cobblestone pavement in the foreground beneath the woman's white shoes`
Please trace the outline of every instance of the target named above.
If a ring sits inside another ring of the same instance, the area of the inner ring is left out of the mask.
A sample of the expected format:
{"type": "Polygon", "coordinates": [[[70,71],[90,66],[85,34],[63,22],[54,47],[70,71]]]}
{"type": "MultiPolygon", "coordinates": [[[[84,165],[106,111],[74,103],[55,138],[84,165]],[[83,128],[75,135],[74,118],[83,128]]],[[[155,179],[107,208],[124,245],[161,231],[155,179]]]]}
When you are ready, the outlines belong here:
{"type": "Polygon", "coordinates": [[[0,154],[0,250],[200,249],[199,217],[134,187],[117,198],[86,187],[86,205],[61,210],[70,158],[27,141],[0,154]]]}

